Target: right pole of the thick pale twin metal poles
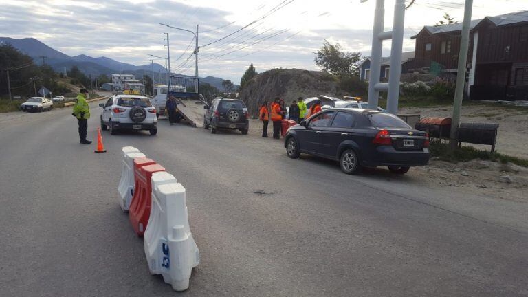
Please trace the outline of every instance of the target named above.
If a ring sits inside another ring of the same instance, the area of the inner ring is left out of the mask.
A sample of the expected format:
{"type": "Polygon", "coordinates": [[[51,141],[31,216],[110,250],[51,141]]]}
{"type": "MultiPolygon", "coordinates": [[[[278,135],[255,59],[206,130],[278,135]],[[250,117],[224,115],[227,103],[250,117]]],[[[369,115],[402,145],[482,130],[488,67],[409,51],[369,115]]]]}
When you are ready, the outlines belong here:
{"type": "Polygon", "coordinates": [[[404,45],[405,0],[394,5],[393,45],[391,46],[391,68],[388,73],[387,110],[398,113],[399,78],[401,77],[401,50],[404,45]]]}

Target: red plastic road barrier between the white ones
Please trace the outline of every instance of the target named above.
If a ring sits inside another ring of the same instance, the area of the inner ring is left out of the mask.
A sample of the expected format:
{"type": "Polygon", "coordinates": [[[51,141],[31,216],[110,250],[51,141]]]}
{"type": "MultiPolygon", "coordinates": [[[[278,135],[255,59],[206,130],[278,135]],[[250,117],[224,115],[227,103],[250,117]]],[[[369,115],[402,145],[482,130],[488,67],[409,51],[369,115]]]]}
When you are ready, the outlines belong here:
{"type": "Polygon", "coordinates": [[[136,182],[134,197],[130,203],[129,219],[137,236],[143,236],[148,223],[148,217],[151,215],[151,177],[153,173],[159,171],[165,171],[165,168],[159,164],[137,166],[134,169],[136,182]]]}

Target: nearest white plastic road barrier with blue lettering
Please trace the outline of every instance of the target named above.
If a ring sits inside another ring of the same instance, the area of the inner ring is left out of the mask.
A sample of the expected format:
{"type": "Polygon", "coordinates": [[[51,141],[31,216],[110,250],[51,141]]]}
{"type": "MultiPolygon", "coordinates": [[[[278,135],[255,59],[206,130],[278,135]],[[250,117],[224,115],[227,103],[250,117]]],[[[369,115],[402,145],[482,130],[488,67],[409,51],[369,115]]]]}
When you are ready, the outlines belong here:
{"type": "Polygon", "coordinates": [[[185,188],[169,173],[152,175],[151,216],[143,245],[151,274],[162,274],[176,291],[189,287],[190,272],[199,264],[200,254],[190,234],[185,188]]]}

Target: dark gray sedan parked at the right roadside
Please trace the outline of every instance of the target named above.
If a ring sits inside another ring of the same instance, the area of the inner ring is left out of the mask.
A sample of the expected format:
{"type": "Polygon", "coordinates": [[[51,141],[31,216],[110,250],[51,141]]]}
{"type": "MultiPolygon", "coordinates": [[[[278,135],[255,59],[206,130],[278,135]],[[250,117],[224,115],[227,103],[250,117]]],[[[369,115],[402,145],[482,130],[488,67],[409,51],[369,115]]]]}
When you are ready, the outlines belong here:
{"type": "Polygon", "coordinates": [[[387,166],[407,173],[429,161],[427,133],[412,129],[395,115],[371,109],[335,108],[320,111],[292,126],[285,136],[287,155],[307,153],[340,162],[344,173],[362,166],[387,166]]]}

